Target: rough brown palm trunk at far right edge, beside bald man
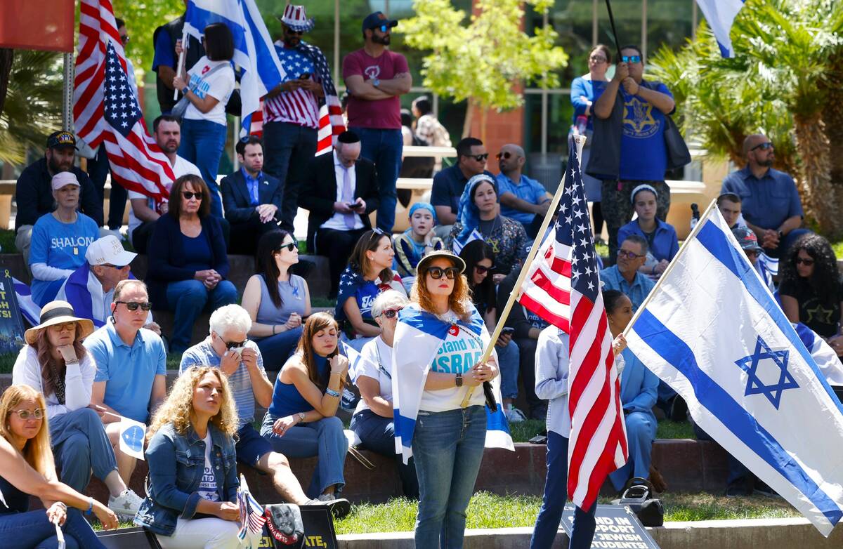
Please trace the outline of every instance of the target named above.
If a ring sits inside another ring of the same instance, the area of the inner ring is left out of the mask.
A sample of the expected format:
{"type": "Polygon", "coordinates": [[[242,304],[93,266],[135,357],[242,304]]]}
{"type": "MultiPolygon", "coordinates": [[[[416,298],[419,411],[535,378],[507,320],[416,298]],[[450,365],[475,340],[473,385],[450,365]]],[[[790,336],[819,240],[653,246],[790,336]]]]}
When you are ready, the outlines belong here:
{"type": "Polygon", "coordinates": [[[831,241],[843,237],[843,216],[840,216],[840,186],[831,183],[829,138],[820,115],[793,116],[797,151],[802,159],[803,177],[800,195],[805,213],[813,217],[817,228],[831,241]]]}

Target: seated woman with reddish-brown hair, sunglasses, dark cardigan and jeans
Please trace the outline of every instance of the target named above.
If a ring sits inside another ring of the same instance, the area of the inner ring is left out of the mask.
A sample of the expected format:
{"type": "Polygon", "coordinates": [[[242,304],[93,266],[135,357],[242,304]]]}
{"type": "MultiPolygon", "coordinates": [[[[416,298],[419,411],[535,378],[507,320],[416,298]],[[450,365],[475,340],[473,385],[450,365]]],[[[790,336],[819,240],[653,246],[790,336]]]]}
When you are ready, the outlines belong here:
{"type": "Polygon", "coordinates": [[[212,310],[237,302],[228,280],[223,229],[211,214],[211,192],[198,175],[176,179],[167,216],[155,221],[149,245],[147,284],[155,308],[175,312],[169,352],[181,354],[193,324],[207,305],[212,310]]]}

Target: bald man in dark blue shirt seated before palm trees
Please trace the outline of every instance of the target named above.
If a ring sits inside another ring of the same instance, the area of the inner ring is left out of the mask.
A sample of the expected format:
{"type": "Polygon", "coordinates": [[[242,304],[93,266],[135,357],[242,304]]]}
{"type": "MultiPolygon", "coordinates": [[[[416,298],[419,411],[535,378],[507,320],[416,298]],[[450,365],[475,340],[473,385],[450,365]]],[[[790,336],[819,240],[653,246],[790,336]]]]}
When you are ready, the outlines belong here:
{"type": "Polygon", "coordinates": [[[720,192],[740,197],[747,226],[767,255],[780,258],[808,232],[800,228],[803,211],[796,184],[790,175],[772,168],[776,152],[766,136],[747,136],[744,157],[746,167],[729,173],[720,192]]]}

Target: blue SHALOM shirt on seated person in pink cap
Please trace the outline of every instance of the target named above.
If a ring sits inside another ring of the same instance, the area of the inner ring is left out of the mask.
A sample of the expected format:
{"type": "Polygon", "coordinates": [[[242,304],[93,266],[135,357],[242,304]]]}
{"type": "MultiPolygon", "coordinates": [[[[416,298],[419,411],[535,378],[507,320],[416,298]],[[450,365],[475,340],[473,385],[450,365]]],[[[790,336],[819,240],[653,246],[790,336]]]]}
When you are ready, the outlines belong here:
{"type": "MultiPolygon", "coordinates": [[[[56,269],[75,270],[85,263],[85,252],[99,238],[97,222],[77,212],[76,221],[62,223],[51,213],[40,216],[32,227],[30,265],[45,263],[56,269]]],[[[66,278],[32,280],[32,299],[45,306],[56,297],[66,278]]]]}

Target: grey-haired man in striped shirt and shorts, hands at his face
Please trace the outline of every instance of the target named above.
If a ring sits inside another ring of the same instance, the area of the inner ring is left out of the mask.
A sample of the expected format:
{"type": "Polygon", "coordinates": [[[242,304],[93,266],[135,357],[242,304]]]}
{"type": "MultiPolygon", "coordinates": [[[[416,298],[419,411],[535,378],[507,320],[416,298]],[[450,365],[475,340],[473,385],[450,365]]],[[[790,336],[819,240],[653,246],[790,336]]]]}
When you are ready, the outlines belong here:
{"type": "MultiPolygon", "coordinates": [[[[311,500],[290,470],[287,457],[272,450],[272,445],[252,426],[255,420],[255,400],[263,408],[272,403],[272,384],[266,377],[263,357],[254,341],[246,334],[252,328],[252,319],[242,306],[226,305],[211,314],[210,333],[199,344],[185,350],[181,356],[179,373],[192,366],[214,366],[228,376],[228,386],[234,398],[239,419],[237,430],[237,459],[248,466],[265,472],[272,478],[277,493],[290,504],[325,504],[311,500]]],[[[280,366],[280,365],[279,365],[280,366]]],[[[346,499],[330,502],[331,511],[345,516],[351,509],[346,499]]]]}

